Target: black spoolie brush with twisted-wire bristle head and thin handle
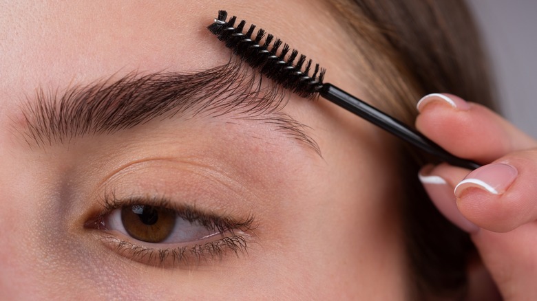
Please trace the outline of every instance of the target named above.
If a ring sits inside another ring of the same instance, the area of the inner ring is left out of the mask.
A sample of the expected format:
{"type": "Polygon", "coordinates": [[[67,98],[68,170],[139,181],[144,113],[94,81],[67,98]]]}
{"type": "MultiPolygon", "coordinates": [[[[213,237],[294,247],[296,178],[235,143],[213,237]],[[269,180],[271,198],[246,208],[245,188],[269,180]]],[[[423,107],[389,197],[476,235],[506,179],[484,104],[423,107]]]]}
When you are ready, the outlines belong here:
{"type": "Polygon", "coordinates": [[[480,166],[474,161],[455,157],[399,120],[334,85],[324,83],[325,69],[319,67],[319,64],[313,67],[312,60],[307,60],[302,54],[299,55],[297,50],[291,49],[279,38],[266,34],[262,29],[257,30],[254,36],[255,25],[250,25],[249,29],[243,32],[246,21],[242,20],[237,25],[235,23],[237,23],[235,16],[227,20],[227,12],[220,10],[218,18],[207,28],[220,41],[223,41],[226,47],[232,49],[241,60],[282,87],[302,97],[311,98],[319,95],[330,100],[339,107],[359,115],[381,129],[454,166],[470,169],[480,166]],[[309,75],[312,69],[313,73],[309,75]]]}

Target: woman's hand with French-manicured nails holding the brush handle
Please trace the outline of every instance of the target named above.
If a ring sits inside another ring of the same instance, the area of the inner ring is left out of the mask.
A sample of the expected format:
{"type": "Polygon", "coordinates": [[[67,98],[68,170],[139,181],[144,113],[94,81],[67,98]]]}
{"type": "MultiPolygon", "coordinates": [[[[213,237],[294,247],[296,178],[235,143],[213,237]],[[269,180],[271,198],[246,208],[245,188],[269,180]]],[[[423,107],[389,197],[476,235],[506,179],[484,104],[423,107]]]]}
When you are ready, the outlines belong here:
{"type": "Polygon", "coordinates": [[[440,164],[420,172],[436,207],[470,233],[505,300],[537,300],[537,141],[496,113],[449,94],[418,104],[417,129],[470,171],[440,164]]]}

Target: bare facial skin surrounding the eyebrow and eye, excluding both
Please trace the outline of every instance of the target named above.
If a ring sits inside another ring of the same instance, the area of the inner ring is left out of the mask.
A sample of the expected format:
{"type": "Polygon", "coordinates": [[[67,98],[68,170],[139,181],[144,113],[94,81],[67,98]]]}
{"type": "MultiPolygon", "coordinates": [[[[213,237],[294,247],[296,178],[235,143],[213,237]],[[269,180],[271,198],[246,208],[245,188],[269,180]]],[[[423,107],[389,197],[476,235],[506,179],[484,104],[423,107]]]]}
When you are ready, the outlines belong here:
{"type": "MultiPolygon", "coordinates": [[[[322,157],[267,124],[233,116],[154,120],[43,147],[23,139],[27,124],[20,106],[33,100],[38,87],[65,91],[132,71],[192,71],[227,63],[229,51],[205,29],[221,5],[0,5],[3,297],[406,296],[391,142],[326,101],[290,96],[283,109],[310,126],[322,157]],[[173,268],[130,260],[107,246],[99,230],[84,227],[103,210],[102,196],[110,190],[120,197],[164,195],[171,203],[237,219],[253,215],[257,227],[245,234],[248,254],[173,268]]],[[[352,66],[342,29],[322,13],[323,4],[225,6],[307,51],[330,70],[327,81],[361,93],[358,75],[345,72],[359,66],[352,66]],[[303,24],[313,17],[325,25],[312,35],[303,24]]]]}

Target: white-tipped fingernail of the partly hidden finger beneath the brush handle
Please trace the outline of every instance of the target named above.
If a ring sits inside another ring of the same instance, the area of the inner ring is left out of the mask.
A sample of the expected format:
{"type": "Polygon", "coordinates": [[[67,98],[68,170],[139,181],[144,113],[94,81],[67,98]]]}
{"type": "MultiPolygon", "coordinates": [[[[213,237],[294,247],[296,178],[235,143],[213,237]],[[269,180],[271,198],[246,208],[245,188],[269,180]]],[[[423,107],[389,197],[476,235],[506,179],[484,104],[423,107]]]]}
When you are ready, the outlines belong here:
{"type": "Polygon", "coordinates": [[[442,177],[436,175],[418,175],[419,180],[436,208],[451,221],[454,225],[462,230],[474,233],[479,227],[468,221],[459,211],[456,205],[456,198],[453,194],[453,187],[448,184],[442,177]]]}

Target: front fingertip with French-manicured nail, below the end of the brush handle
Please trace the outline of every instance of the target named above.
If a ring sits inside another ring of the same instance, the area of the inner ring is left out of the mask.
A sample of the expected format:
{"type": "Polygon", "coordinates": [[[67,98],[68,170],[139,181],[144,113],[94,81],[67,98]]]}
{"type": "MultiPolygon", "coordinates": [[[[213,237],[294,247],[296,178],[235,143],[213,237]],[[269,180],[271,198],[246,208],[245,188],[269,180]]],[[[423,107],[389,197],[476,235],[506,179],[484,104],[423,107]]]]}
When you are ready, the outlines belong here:
{"type": "Polygon", "coordinates": [[[478,168],[457,184],[457,207],[466,219],[493,232],[537,220],[537,150],[525,150],[478,168]]]}

